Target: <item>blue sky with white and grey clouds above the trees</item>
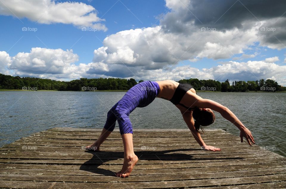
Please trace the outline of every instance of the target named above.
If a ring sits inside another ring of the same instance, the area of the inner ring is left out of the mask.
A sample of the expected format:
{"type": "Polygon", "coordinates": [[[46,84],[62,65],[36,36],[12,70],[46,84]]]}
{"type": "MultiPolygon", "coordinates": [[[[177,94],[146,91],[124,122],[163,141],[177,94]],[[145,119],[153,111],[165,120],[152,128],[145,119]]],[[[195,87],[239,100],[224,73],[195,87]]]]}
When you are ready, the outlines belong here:
{"type": "Polygon", "coordinates": [[[0,0],[0,73],[286,86],[286,2],[0,0]]]}

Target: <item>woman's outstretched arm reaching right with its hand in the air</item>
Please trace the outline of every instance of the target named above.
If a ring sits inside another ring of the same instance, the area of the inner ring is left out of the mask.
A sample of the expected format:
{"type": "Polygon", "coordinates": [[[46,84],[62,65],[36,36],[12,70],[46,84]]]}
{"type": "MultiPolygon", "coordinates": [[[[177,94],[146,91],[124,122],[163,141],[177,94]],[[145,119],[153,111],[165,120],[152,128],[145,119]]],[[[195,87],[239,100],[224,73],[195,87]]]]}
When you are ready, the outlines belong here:
{"type": "Polygon", "coordinates": [[[219,112],[226,120],[229,120],[240,129],[241,142],[243,142],[243,137],[245,137],[249,145],[251,145],[250,141],[255,144],[254,138],[248,128],[246,128],[227,107],[209,99],[198,99],[195,102],[195,105],[201,108],[210,108],[219,112]]]}

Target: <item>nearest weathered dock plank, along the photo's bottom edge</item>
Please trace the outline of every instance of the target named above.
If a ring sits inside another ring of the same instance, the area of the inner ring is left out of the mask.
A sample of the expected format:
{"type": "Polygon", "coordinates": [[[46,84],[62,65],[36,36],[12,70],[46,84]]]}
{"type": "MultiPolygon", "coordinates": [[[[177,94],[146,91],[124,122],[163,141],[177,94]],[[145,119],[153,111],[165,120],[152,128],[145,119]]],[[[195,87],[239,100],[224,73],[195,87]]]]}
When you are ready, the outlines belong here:
{"type": "Polygon", "coordinates": [[[158,182],[108,182],[93,183],[93,180],[86,182],[31,182],[31,181],[0,181],[0,187],[5,188],[184,188],[192,187],[214,187],[229,186],[240,184],[259,184],[266,183],[265,180],[273,182],[285,182],[284,174],[253,176],[253,177],[235,177],[223,179],[206,180],[183,180],[183,181],[158,181],[158,182]]]}

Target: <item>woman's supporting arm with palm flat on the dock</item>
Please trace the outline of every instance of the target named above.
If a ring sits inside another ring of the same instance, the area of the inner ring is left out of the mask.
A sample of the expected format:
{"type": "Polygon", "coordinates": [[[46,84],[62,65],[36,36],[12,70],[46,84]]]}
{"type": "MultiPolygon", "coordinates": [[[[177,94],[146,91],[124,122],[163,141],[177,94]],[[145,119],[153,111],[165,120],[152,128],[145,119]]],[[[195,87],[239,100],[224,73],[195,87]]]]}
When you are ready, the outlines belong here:
{"type": "Polygon", "coordinates": [[[202,137],[200,136],[200,133],[198,131],[196,131],[195,129],[195,122],[194,119],[192,117],[192,113],[191,112],[181,112],[182,116],[184,118],[184,121],[186,122],[188,128],[190,129],[190,131],[192,132],[192,135],[194,136],[195,140],[198,142],[198,144],[202,147],[203,150],[211,150],[211,151],[220,151],[220,148],[216,148],[213,146],[208,146],[205,144],[205,142],[203,142],[202,137]]]}

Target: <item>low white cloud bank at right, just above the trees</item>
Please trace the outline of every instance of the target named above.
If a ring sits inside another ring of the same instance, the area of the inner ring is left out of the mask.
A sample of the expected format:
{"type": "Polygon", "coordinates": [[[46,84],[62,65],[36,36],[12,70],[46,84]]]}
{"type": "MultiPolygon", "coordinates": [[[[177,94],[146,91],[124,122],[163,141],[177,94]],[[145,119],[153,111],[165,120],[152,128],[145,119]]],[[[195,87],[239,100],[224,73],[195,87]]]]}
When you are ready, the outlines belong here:
{"type": "Polygon", "coordinates": [[[145,78],[148,78],[148,74],[155,74],[156,78],[154,78],[154,80],[173,79],[177,81],[189,78],[198,78],[200,80],[213,79],[221,82],[227,79],[231,81],[256,81],[271,78],[277,81],[279,85],[286,85],[285,72],[286,66],[280,66],[275,63],[267,63],[264,61],[247,61],[239,63],[230,61],[210,69],[199,70],[191,66],[180,66],[170,70],[161,69],[156,72],[147,72],[145,78]]]}

